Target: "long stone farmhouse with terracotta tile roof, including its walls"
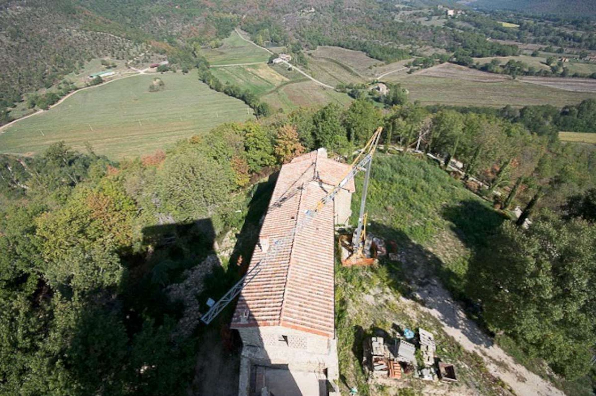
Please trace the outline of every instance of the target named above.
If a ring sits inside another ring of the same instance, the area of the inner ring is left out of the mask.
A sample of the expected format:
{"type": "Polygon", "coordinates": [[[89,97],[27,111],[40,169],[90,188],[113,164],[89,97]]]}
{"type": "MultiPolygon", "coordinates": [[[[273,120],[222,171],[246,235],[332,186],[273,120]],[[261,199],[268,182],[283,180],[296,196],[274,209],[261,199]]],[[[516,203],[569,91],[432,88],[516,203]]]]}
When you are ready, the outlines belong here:
{"type": "Polygon", "coordinates": [[[290,238],[260,264],[232,318],[243,342],[239,395],[260,395],[265,386],[287,396],[337,389],[334,225],[349,219],[354,182],[293,236],[292,230],[349,170],[324,149],[281,167],[249,270],[275,241],[290,238]]]}

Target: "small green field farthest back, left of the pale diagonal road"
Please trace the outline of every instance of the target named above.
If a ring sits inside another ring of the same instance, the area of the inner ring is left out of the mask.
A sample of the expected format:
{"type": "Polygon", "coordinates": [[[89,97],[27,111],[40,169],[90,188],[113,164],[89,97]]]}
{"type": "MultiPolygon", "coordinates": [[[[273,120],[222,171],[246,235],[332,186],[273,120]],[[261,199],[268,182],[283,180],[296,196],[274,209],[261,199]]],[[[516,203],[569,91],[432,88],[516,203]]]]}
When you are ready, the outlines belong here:
{"type": "Polygon", "coordinates": [[[203,49],[201,53],[210,64],[266,62],[271,55],[269,52],[244,41],[236,32],[232,32],[228,38],[224,39],[224,45],[221,47],[203,49]]]}

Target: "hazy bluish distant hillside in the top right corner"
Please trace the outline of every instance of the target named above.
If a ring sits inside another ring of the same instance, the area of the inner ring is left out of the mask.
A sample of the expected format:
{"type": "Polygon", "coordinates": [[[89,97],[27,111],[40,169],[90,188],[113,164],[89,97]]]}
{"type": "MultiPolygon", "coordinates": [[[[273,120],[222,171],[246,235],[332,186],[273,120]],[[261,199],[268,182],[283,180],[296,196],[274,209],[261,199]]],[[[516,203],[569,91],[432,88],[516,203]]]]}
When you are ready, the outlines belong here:
{"type": "Polygon", "coordinates": [[[470,7],[492,10],[515,10],[532,14],[552,14],[564,17],[596,17],[593,0],[472,0],[470,7]]]}

